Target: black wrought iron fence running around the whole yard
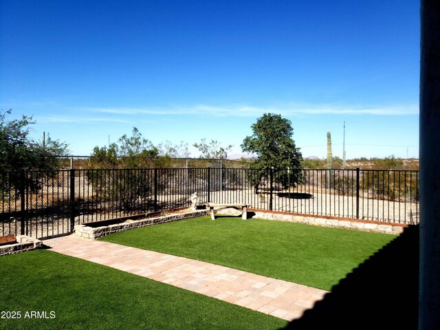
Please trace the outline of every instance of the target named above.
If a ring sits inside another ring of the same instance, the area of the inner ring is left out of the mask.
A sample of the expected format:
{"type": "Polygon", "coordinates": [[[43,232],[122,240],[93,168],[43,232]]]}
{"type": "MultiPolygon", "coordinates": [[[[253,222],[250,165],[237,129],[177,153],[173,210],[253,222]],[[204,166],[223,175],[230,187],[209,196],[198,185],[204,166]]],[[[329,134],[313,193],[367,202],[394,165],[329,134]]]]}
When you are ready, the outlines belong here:
{"type": "Polygon", "coordinates": [[[415,170],[72,169],[0,173],[0,236],[46,238],[79,223],[186,208],[193,192],[201,204],[419,222],[415,170]]]}

